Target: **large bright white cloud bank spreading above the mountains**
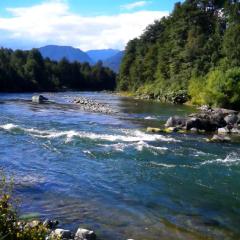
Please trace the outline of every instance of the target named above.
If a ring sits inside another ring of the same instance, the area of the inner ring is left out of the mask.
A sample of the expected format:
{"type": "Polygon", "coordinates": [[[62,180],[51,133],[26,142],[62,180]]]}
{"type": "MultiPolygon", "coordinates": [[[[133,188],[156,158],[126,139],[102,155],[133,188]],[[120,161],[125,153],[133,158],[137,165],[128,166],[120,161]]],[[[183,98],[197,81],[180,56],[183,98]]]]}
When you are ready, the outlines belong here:
{"type": "Polygon", "coordinates": [[[84,17],[72,13],[67,2],[61,0],[7,10],[12,16],[0,17],[0,35],[4,33],[4,39],[26,41],[31,43],[30,47],[58,44],[83,50],[122,49],[130,39],[138,37],[148,24],[168,14],[137,11],[84,17]]]}

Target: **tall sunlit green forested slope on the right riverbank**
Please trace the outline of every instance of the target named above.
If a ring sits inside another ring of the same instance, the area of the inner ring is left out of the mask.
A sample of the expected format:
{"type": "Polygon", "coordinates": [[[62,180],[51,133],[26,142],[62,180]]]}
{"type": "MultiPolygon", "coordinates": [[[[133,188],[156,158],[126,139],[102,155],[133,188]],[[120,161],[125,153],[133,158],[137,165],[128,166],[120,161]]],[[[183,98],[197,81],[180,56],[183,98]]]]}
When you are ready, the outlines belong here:
{"type": "Polygon", "coordinates": [[[186,0],[126,47],[118,89],[240,108],[240,1],[186,0]]]}

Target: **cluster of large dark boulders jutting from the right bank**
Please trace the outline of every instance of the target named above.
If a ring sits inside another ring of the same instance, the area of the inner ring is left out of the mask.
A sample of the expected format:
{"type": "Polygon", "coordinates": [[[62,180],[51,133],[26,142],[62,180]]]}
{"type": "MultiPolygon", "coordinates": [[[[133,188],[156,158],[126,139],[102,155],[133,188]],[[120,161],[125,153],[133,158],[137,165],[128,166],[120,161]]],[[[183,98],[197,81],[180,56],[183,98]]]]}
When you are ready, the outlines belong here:
{"type": "Polygon", "coordinates": [[[165,128],[148,128],[148,132],[213,133],[210,142],[231,141],[231,135],[240,136],[240,112],[202,106],[198,113],[186,117],[170,117],[165,128]]]}

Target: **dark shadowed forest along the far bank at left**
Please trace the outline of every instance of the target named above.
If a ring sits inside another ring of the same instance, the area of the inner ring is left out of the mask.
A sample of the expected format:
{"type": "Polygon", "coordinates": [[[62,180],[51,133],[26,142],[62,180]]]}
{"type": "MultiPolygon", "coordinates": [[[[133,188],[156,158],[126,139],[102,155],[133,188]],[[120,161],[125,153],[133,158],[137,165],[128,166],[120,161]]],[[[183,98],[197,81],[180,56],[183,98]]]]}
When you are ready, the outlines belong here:
{"type": "Polygon", "coordinates": [[[0,49],[0,92],[114,90],[116,75],[101,62],[70,63],[44,59],[38,50],[0,49]]]}

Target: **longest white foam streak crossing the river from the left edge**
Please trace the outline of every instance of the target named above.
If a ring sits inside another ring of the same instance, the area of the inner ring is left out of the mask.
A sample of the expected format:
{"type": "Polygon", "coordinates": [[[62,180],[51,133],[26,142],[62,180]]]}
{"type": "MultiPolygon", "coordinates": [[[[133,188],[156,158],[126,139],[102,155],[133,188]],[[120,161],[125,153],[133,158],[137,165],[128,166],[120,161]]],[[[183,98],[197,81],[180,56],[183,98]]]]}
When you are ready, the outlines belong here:
{"type": "Polygon", "coordinates": [[[179,142],[178,140],[158,134],[147,134],[139,130],[122,130],[123,135],[113,134],[96,134],[85,131],[56,131],[56,130],[38,130],[34,128],[24,128],[14,124],[0,125],[1,129],[11,131],[15,129],[22,130],[38,138],[53,139],[66,137],[66,142],[70,142],[74,137],[87,138],[92,140],[104,140],[110,142],[139,142],[139,141],[162,141],[162,142],[179,142]]]}

